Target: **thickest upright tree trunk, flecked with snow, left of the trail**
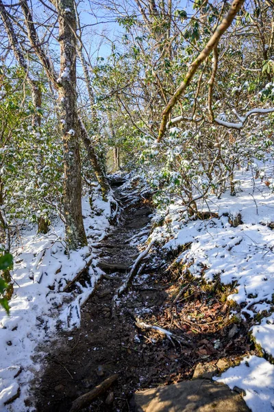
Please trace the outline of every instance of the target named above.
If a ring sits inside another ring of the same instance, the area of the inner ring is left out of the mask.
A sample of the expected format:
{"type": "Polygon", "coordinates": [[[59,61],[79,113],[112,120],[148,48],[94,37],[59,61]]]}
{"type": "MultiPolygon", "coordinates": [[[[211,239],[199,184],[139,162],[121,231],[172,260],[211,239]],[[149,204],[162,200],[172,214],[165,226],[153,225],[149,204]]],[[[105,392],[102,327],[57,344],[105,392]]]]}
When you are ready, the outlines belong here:
{"type": "Polygon", "coordinates": [[[79,155],[80,128],[76,93],[76,16],[73,0],[56,0],[60,43],[59,101],[63,120],[64,216],[69,249],[87,244],[82,217],[82,176],[79,155]]]}

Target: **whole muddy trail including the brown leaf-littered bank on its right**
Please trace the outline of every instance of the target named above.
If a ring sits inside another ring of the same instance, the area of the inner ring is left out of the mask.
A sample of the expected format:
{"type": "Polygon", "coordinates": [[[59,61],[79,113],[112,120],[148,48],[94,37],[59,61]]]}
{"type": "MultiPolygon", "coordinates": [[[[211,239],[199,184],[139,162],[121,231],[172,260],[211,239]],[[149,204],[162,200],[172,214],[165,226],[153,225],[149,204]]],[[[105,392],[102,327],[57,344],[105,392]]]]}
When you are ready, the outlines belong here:
{"type": "Polygon", "coordinates": [[[127,194],[121,187],[114,190],[124,210],[120,224],[97,247],[106,275],[82,308],[80,328],[60,332],[45,358],[36,382],[38,412],[69,412],[76,398],[113,374],[119,375],[114,385],[83,411],[132,411],[134,392],[189,380],[200,372],[218,373],[253,350],[249,325],[229,317],[218,288],[203,290],[187,279],[182,284],[175,271],[166,270],[174,256],[162,256],[156,247],[112,310],[116,289],[145,248],[151,225],[149,202],[138,196],[132,202],[134,189],[127,194]],[[184,294],[177,298],[182,286],[184,294]],[[136,317],[171,331],[175,338],[143,328],[136,317]]]}

